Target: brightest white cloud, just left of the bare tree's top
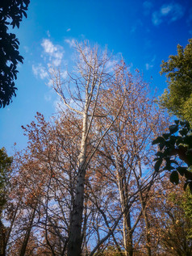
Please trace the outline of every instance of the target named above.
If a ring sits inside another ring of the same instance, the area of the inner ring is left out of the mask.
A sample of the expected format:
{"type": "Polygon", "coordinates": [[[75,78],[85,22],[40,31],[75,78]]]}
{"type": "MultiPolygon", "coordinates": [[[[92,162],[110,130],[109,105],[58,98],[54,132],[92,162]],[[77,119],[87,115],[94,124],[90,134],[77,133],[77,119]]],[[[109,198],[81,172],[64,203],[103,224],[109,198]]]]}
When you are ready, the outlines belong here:
{"type": "Polygon", "coordinates": [[[48,54],[49,61],[51,61],[53,65],[61,65],[64,54],[64,49],[61,45],[54,45],[51,40],[44,39],[41,46],[43,46],[44,52],[48,54]]]}

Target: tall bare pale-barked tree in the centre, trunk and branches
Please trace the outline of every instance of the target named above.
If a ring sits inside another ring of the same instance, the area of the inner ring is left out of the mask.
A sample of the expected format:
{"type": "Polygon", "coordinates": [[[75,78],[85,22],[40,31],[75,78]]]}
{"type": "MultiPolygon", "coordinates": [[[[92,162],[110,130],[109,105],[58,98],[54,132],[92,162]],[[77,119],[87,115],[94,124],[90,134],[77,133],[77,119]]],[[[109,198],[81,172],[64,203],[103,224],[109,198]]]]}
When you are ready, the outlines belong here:
{"type": "MultiPolygon", "coordinates": [[[[107,102],[103,102],[102,94],[112,88],[116,74],[121,72],[122,65],[116,65],[115,61],[108,56],[106,50],[100,51],[98,47],[90,48],[89,44],[76,44],[77,65],[73,74],[70,74],[69,84],[61,80],[60,71],[53,70],[52,82],[56,93],[60,95],[65,107],[77,115],[81,115],[81,143],[77,161],[77,183],[73,199],[73,211],[70,217],[70,233],[68,255],[81,254],[82,233],[81,223],[83,217],[83,203],[85,196],[85,177],[89,163],[102,142],[104,136],[110,131],[123,106],[112,110],[115,117],[111,120],[102,135],[96,136],[94,141],[92,132],[95,119],[103,119],[109,115],[107,102]],[[64,87],[65,86],[65,87],[64,87]],[[68,90],[65,90],[65,89],[68,90]],[[73,91],[73,93],[72,93],[73,91]],[[66,94],[69,94],[67,98],[66,94]],[[102,108],[100,107],[102,106],[102,108]]],[[[115,95],[114,95],[115,96],[115,95]]],[[[116,95],[118,97],[118,95],[116,95]]],[[[115,98],[116,98],[115,97],[115,98]]]]}

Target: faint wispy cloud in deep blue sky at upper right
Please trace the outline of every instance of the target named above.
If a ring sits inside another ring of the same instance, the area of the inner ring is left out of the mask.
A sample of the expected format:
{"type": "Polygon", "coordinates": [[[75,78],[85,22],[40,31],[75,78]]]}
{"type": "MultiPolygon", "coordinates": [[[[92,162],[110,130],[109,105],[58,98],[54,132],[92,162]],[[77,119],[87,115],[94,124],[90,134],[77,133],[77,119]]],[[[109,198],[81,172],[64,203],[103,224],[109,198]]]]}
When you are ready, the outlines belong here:
{"type": "Polygon", "coordinates": [[[185,13],[185,8],[179,3],[164,4],[157,11],[152,13],[152,23],[157,26],[162,22],[174,22],[181,19],[185,13]]]}

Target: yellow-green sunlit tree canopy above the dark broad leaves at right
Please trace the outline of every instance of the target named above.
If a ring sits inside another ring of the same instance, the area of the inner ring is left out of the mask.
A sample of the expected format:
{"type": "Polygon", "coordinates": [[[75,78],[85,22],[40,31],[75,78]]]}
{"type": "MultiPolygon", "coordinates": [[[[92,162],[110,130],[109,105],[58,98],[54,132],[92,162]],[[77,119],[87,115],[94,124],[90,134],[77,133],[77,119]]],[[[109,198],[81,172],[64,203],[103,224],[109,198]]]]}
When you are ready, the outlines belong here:
{"type": "Polygon", "coordinates": [[[182,120],[192,120],[192,39],[186,48],[177,45],[177,55],[162,61],[161,74],[166,73],[168,89],[161,95],[162,107],[182,120]]]}

